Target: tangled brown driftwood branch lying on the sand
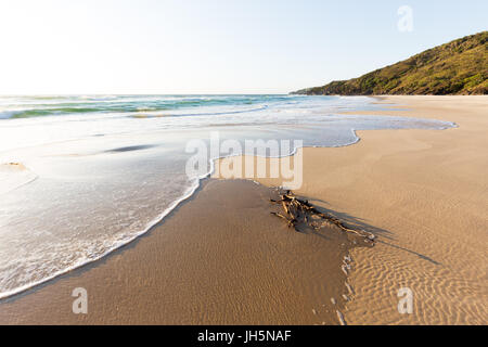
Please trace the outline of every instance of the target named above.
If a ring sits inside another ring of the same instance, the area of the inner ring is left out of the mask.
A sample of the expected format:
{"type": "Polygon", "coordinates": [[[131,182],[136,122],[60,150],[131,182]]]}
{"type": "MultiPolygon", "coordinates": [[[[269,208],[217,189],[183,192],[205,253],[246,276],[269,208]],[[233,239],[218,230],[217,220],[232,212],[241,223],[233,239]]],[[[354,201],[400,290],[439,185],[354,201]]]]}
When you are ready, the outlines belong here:
{"type": "Polygon", "coordinates": [[[296,197],[291,191],[279,193],[279,200],[270,198],[270,202],[277,205],[281,205],[281,207],[283,207],[284,215],[280,213],[271,213],[271,215],[284,219],[288,224],[288,228],[293,227],[296,231],[298,231],[298,223],[305,222],[305,224],[313,228],[314,230],[318,230],[320,228],[320,224],[317,221],[324,220],[336,226],[344,232],[354,233],[358,236],[364,237],[364,240],[368,242],[374,242],[374,234],[365,230],[355,230],[347,227],[338,218],[330,214],[319,211],[307,200],[300,200],[296,197]]]}

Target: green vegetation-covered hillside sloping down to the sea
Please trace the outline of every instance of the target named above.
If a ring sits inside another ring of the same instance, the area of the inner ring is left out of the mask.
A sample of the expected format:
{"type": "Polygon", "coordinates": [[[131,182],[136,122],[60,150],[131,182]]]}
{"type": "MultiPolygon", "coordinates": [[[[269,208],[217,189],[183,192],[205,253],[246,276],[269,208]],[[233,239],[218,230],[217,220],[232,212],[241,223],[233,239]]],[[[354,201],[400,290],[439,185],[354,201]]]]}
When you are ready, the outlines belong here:
{"type": "Polygon", "coordinates": [[[488,31],[429,49],[359,78],[295,94],[488,94],[488,31]]]}

